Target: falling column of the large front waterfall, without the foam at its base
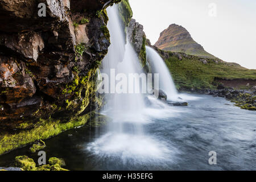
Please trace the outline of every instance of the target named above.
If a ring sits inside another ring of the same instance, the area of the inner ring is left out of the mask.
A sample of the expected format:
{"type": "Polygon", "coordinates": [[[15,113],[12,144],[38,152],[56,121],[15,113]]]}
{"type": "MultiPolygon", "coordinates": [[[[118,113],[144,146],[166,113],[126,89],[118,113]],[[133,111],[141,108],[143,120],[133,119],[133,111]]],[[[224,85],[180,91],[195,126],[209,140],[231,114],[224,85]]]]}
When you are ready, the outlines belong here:
{"type": "MultiPolygon", "coordinates": [[[[107,9],[109,16],[108,28],[110,31],[110,42],[108,54],[102,60],[102,73],[106,73],[109,78],[112,76],[110,69],[114,69],[115,75],[122,74],[127,78],[129,74],[141,74],[141,65],[133,47],[129,41],[125,41],[125,35],[118,13],[118,5],[113,5],[107,9]]],[[[113,80],[112,78],[109,79],[113,80]]],[[[113,82],[113,81],[112,81],[113,82]]],[[[115,82],[114,86],[117,85],[115,82]]],[[[111,85],[113,83],[110,83],[111,85]]],[[[139,88],[138,82],[134,82],[133,88],[139,88]]],[[[106,94],[107,110],[111,110],[108,115],[113,115],[114,122],[135,122],[141,118],[144,109],[143,95],[139,93],[110,93],[106,94]]]]}

